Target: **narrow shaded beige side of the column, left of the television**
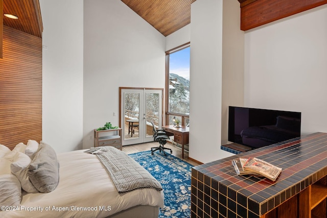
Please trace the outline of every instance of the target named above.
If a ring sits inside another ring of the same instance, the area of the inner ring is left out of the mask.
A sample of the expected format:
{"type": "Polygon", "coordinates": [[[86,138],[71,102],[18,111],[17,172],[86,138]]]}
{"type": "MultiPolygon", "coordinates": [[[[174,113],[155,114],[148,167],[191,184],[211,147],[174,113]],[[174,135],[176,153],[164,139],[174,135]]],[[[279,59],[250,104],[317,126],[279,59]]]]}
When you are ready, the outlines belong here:
{"type": "Polygon", "coordinates": [[[221,144],[228,142],[228,106],[244,104],[244,31],[238,1],[223,0],[221,144]]]}

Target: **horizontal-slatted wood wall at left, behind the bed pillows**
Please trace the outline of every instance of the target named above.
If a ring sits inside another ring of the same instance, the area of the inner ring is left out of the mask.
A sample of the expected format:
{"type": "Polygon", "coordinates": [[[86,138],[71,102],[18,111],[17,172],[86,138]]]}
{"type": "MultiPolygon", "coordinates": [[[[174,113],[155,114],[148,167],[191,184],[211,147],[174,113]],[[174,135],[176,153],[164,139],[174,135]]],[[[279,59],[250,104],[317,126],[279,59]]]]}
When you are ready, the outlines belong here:
{"type": "Polygon", "coordinates": [[[0,144],[42,139],[42,39],[4,26],[0,144]]]}

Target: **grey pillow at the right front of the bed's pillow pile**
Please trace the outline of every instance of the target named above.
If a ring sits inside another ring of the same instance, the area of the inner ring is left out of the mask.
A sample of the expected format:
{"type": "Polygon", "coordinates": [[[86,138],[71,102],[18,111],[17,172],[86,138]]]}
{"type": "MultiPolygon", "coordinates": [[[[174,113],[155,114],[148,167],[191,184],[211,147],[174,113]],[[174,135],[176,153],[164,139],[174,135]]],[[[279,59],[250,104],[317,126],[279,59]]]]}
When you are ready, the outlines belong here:
{"type": "Polygon", "coordinates": [[[59,182],[59,163],[49,144],[40,142],[40,148],[28,167],[27,175],[34,187],[44,193],[53,191],[59,182]]]}

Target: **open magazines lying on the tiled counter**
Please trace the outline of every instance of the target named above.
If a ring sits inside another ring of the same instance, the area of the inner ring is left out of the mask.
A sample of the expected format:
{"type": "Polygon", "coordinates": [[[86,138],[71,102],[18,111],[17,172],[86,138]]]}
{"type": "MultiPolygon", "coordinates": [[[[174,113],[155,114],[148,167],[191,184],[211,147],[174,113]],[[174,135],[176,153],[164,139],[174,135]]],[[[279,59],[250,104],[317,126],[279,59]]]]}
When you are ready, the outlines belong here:
{"type": "Polygon", "coordinates": [[[282,168],[255,157],[233,159],[231,163],[238,175],[264,176],[275,181],[282,172],[282,168]]]}

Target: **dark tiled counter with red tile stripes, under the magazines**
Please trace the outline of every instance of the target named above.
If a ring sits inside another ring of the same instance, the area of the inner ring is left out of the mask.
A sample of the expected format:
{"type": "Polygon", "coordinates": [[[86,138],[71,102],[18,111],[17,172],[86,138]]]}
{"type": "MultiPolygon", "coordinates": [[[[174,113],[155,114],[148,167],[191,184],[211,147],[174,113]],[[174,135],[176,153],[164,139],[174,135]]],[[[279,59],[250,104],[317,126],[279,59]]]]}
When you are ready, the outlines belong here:
{"type": "Polygon", "coordinates": [[[325,175],[327,133],[301,136],[202,164],[192,169],[192,217],[260,217],[325,175]],[[283,171],[274,182],[238,176],[231,160],[239,157],[257,157],[283,171]]]}

